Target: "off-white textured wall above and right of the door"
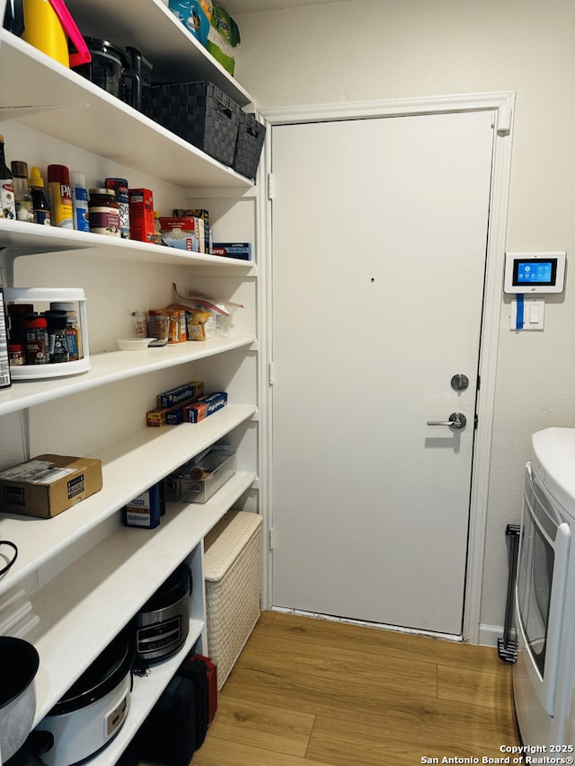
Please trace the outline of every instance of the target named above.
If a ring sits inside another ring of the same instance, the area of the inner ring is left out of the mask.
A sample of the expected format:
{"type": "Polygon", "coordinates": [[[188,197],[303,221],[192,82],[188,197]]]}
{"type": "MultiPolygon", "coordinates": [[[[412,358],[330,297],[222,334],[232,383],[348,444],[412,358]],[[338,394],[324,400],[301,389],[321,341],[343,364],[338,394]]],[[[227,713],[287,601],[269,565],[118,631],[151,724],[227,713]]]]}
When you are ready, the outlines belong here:
{"type": "MultiPolygon", "coordinates": [[[[235,74],[261,110],[516,91],[507,250],[565,250],[575,262],[572,0],[350,0],[236,21],[235,74]]],[[[505,528],[519,521],[530,435],[575,427],[574,287],[571,268],[542,333],[510,331],[502,298],[484,629],[503,624],[505,528]]]]}

